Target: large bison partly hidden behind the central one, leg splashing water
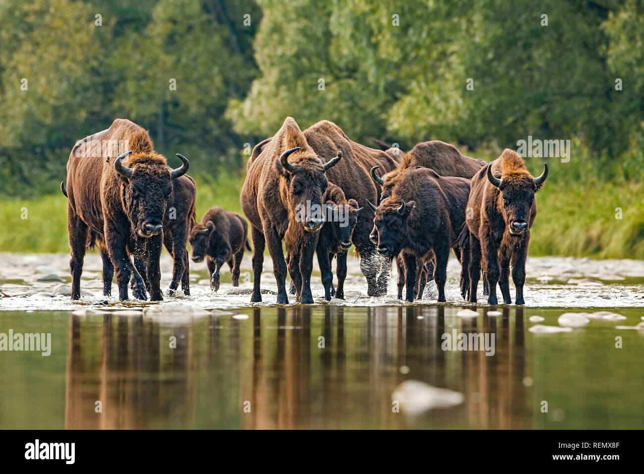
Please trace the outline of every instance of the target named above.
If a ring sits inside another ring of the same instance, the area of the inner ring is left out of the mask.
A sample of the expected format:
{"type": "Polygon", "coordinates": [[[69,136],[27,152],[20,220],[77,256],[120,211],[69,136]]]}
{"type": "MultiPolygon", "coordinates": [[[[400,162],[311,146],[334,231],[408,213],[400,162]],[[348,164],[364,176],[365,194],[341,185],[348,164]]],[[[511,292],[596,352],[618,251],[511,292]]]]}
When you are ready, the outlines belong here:
{"type": "MultiPolygon", "coordinates": [[[[380,150],[355,143],[348,139],[345,132],[336,124],[323,120],[304,131],[307,143],[323,157],[331,156],[332,150],[341,150],[345,158],[327,173],[329,181],[339,186],[346,199],[365,202],[366,199],[378,202],[379,186],[375,186],[369,170],[381,166],[386,172],[394,170],[397,163],[380,150]]],[[[352,243],[360,255],[360,268],[367,281],[367,294],[381,296],[386,293],[389,278],[388,259],[376,251],[375,244],[369,239],[374,223],[371,208],[358,215],[352,243]]]]}

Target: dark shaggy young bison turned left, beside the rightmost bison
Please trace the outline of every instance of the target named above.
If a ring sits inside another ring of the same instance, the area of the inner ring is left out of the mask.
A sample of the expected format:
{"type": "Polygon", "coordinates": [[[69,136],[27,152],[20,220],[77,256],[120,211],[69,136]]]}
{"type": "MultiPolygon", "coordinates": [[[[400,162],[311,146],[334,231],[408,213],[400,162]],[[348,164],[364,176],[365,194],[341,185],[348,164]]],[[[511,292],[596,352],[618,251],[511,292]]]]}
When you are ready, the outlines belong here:
{"type": "MultiPolygon", "coordinates": [[[[412,168],[399,175],[391,195],[377,208],[368,202],[375,211],[378,252],[385,257],[403,252],[407,282],[416,281],[417,259],[433,259],[439,302],[445,301],[450,248],[460,261],[459,234],[468,195],[468,179],[412,168]]],[[[407,301],[413,301],[414,286],[407,284],[407,301]]]]}

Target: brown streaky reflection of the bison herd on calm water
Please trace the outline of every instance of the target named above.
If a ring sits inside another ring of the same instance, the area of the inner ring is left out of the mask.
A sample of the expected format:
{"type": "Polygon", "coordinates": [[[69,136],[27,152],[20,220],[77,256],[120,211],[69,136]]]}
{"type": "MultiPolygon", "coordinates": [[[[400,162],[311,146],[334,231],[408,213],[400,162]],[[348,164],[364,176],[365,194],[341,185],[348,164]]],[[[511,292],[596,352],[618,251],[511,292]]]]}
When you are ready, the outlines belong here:
{"type": "Polygon", "coordinates": [[[458,310],[251,308],[249,319],[172,326],[72,315],[65,428],[533,428],[523,309],[473,319],[458,310]],[[442,350],[453,330],[495,335],[494,355],[442,350]],[[392,391],[408,379],[465,402],[394,413],[392,391]]]}

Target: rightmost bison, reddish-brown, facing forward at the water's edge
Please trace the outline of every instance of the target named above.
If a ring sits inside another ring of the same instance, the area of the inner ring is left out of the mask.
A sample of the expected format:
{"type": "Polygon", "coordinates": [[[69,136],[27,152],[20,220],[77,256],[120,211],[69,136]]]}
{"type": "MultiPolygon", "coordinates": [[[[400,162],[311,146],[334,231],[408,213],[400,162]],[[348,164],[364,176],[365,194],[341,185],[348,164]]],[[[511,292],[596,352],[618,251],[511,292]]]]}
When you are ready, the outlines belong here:
{"type": "Polygon", "coordinates": [[[477,285],[481,270],[488,281],[489,304],[497,304],[497,282],[503,301],[511,304],[509,273],[516,287],[516,304],[524,304],[527,246],[530,228],[535,222],[535,193],[548,176],[548,166],[539,177],[532,177],[523,159],[506,149],[493,163],[473,178],[467,219],[469,229],[469,301],[477,301],[477,285]],[[500,174],[499,174],[500,173],[500,174]]]}

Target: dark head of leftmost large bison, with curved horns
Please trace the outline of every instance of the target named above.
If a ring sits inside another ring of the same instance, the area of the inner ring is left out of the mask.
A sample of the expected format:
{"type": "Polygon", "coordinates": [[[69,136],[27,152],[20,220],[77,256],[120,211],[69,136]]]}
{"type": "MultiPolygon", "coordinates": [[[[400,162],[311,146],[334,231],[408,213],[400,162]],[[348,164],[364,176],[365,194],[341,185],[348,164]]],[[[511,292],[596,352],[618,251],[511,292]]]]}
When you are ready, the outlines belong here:
{"type": "Polygon", "coordinates": [[[189,163],[177,153],[184,164],[176,170],[170,170],[161,155],[152,153],[130,159],[133,165],[128,168],[122,160],[130,153],[120,155],[114,162],[114,169],[126,181],[124,204],[133,230],[139,237],[152,237],[163,230],[163,216],[167,198],[172,192],[172,180],[183,176],[189,163]]]}

